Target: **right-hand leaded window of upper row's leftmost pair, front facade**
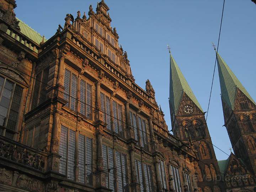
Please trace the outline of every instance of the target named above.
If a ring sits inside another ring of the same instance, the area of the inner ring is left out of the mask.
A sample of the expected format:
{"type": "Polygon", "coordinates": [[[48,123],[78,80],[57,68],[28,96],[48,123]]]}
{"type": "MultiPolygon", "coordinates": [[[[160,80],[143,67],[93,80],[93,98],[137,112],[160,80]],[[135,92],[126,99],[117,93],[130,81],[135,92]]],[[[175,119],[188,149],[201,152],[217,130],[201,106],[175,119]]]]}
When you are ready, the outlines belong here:
{"type": "Polygon", "coordinates": [[[92,119],[92,86],[82,79],[80,81],[80,113],[92,119]]]}

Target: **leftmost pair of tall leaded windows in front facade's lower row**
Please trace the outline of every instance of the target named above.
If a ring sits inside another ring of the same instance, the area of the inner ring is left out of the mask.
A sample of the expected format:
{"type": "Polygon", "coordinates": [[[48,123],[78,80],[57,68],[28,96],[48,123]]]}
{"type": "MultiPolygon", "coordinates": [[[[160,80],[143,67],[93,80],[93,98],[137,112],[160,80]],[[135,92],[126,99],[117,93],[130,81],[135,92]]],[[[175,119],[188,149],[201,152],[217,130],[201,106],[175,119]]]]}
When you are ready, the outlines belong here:
{"type": "Polygon", "coordinates": [[[75,179],[75,151],[78,152],[79,160],[78,180],[81,183],[92,185],[92,139],[61,126],[59,172],[70,180],[75,179]],[[78,149],[75,148],[76,134],[78,134],[78,149]]]}

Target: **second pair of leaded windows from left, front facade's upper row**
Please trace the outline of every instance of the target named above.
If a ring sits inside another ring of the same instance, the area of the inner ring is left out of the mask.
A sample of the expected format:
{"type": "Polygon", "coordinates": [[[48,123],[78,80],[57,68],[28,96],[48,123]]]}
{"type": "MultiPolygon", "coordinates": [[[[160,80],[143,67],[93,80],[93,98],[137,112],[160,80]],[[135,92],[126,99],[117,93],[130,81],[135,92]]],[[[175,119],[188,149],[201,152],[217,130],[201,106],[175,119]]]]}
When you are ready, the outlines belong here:
{"type": "Polygon", "coordinates": [[[107,123],[107,129],[113,130],[124,137],[123,106],[101,92],[101,110],[104,112],[103,120],[107,123]],[[112,112],[111,112],[112,106],[112,112]],[[113,126],[111,126],[113,116],[113,126]]]}

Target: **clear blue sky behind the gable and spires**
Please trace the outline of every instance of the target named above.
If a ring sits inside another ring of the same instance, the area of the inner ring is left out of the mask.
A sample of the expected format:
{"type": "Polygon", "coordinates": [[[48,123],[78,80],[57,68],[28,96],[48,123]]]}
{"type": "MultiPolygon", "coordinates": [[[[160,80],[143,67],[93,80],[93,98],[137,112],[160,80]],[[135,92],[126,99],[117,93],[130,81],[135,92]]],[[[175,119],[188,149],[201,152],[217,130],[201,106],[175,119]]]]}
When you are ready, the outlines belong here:
{"type": "MultiPolygon", "coordinates": [[[[223,0],[105,0],[110,7],[112,27],[119,34],[119,44],[128,53],[136,83],[145,87],[150,79],[156,100],[171,129],[169,111],[169,53],[171,52],[204,111],[207,111],[223,0]]],[[[95,0],[17,0],[16,16],[47,39],[64,25],[67,13],[89,11],[95,0]]],[[[255,47],[256,5],[250,0],[226,0],[219,53],[249,94],[256,100],[255,47]]],[[[216,68],[209,108],[208,128],[213,144],[226,153],[231,147],[223,127],[218,70],[216,68]]],[[[225,155],[215,149],[218,160],[225,155]]]]}

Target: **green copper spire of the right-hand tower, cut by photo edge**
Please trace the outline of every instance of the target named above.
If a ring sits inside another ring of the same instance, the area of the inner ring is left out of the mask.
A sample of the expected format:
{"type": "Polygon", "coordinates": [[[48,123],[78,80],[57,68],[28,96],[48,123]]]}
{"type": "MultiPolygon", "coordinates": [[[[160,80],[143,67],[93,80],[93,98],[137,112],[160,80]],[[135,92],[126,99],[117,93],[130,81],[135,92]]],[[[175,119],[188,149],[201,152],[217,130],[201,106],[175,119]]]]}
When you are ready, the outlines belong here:
{"type": "Polygon", "coordinates": [[[229,107],[232,110],[234,110],[237,88],[240,91],[242,91],[245,94],[245,96],[248,97],[249,100],[251,100],[251,102],[255,104],[255,101],[251,98],[249,93],[246,91],[244,86],[242,86],[241,82],[238,80],[235,74],[231,71],[229,66],[222,59],[222,57],[220,57],[219,53],[217,54],[217,62],[218,62],[218,70],[219,70],[220,90],[221,90],[222,98],[227,103],[227,105],[229,105],[229,107]]]}

